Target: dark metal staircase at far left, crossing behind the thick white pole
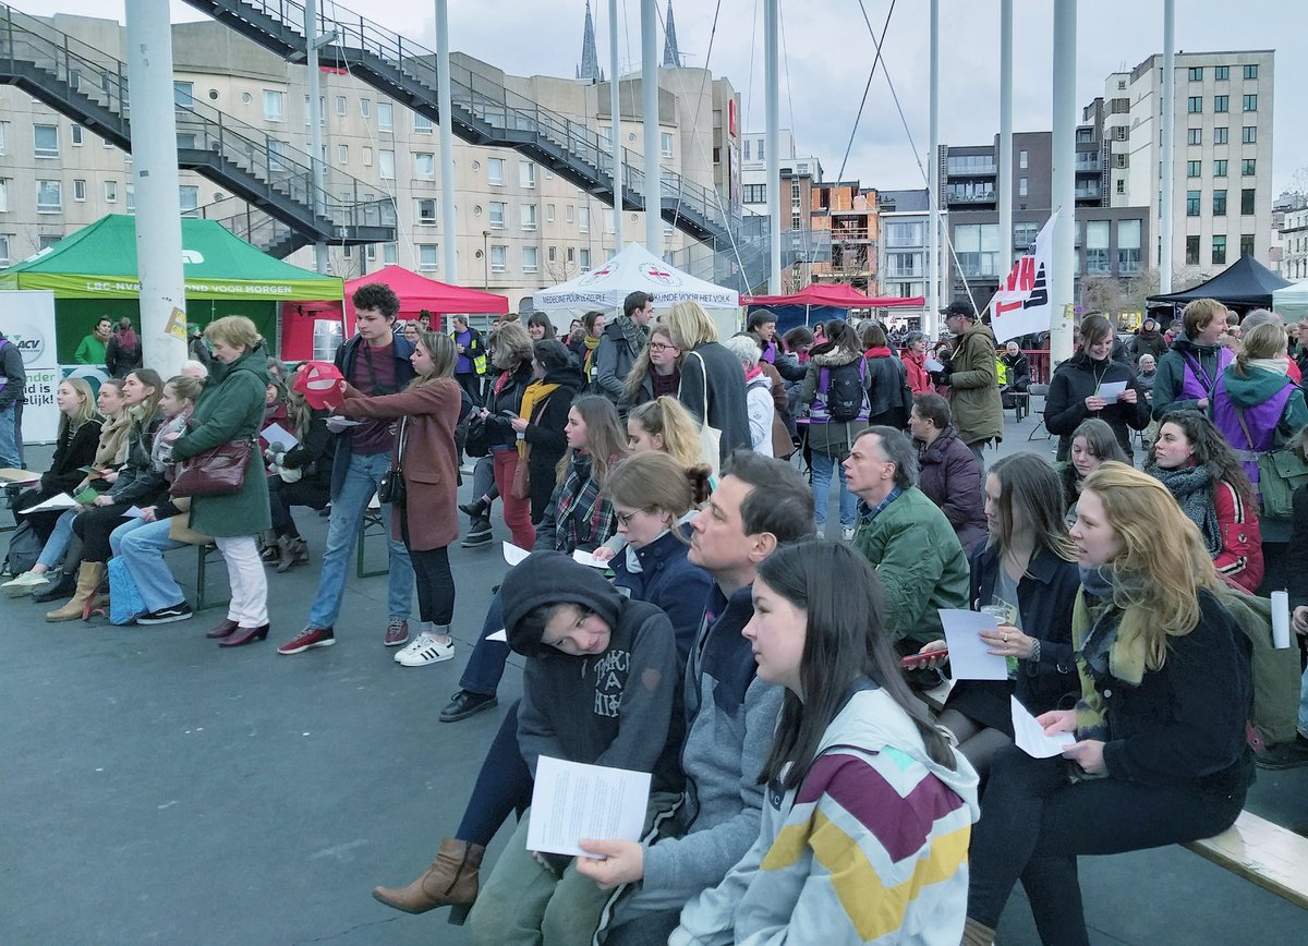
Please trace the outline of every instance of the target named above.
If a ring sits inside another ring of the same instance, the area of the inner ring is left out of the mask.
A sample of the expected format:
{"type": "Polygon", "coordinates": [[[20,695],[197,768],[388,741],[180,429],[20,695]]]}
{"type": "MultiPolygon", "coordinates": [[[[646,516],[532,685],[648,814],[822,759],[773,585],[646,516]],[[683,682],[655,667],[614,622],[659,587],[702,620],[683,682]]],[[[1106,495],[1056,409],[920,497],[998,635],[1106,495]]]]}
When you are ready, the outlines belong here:
{"type": "MultiPolygon", "coordinates": [[[[0,82],[131,152],[126,64],[3,4],[0,82]]],[[[361,199],[370,184],[332,169],[331,183],[318,191],[307,154],[201,102],[178,101],[175,107],[178,166],[258,208],[220,221],[237,236],[279,258],[317,242],[395,239],[395,204],[390,198],[361,199]],[[351,196],[343,199],[343,191],[351,196]]]]}

